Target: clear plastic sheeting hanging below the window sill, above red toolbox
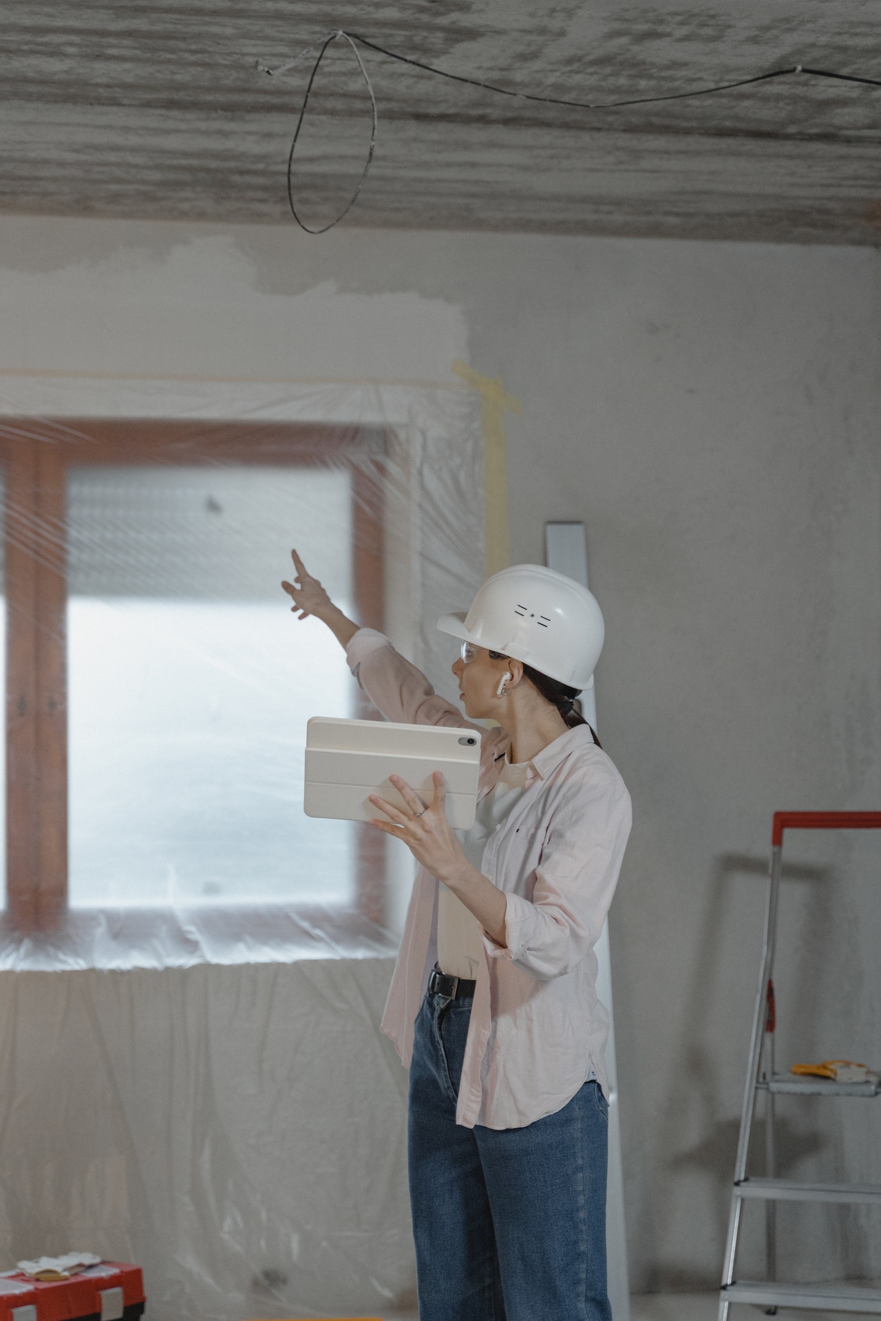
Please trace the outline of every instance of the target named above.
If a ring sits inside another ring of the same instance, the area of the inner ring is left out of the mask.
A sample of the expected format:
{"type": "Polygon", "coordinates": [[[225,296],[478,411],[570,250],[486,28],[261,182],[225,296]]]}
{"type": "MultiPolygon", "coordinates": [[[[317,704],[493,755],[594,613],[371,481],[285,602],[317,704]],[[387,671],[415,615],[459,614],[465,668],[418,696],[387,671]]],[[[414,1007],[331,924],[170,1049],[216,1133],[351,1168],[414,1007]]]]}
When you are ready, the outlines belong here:
{"type": "Polygon", "coordinates": [[[4,1266],[135,1262],[151,1321],[405,1305],[391,966],[0,974],[4,1266]]]}

